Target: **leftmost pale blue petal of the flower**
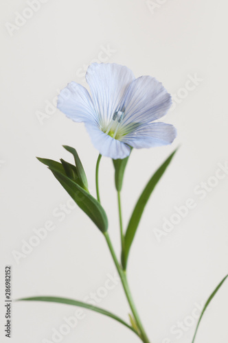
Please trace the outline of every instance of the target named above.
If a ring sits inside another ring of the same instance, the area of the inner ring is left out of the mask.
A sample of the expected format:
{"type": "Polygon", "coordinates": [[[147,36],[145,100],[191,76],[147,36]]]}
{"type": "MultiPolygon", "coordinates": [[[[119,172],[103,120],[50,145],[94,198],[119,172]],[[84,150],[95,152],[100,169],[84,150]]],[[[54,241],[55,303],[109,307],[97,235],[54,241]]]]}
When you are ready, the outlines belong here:
{"type": "Polygon", "coordinates": [[[60,91],[57,107],[73,121],[98,123],[91,96],[86,88],[76,82],[69,83],[60,91]]]}

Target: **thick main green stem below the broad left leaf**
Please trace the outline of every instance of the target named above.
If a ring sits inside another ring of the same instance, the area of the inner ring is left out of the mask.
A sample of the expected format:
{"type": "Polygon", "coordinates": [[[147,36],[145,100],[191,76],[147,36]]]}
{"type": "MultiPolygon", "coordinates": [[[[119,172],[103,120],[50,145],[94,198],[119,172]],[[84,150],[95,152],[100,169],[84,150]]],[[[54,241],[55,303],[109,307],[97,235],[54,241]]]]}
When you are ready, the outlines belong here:
{"type": "Polygon", "coordinates": [[[113,244],[111,243],[111,239],[110,239],[109,233],[107,231],[104,233],[104,237],[105,237],[106,242],[107,242],[107,244],[109,246],[109,250],[110,250],[111,255],[113,257],[113,261],[114,261],[115,266],[117,268],[117,272],[119,274],[119,277],[120,277],[120,279],[122,281],[122,285],[124,287],[124,292],[126,294],[126,298],[128,299],[128,303],[130,305],[130,309],[131,309],[131,311],[133,313],[133,316],[135,318],[135,322],[137,323],[137,327],[138,327],[138,329],[139,329],[139,331],[141,333],[141,340],[144,343],[150,343],[150,341],[149,341],[149,339],[148,339],[148,337],[146,335],[146,331],[144,330],[144,327],[143,327],[143,325],[141,323],[141,320],[139,318],[139,314],[137,313],[137,309],[135,307],[135,303],[133,301],[133,297],[132,297],[132,295],[130,293],[130,288],[129,288],[128,281],[127,281],[127,278],[126,278],[126,271],[122,270],[121,266],[119,265],[119,262],[117,260],[116,255],[115,255],[113,244]]]}

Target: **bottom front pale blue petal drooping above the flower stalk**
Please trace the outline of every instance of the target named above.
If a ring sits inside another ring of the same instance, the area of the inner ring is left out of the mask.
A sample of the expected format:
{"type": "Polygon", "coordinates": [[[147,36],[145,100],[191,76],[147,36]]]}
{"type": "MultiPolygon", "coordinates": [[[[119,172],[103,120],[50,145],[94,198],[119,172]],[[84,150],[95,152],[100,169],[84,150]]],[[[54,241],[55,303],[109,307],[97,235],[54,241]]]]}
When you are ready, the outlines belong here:
{"type": "Polygon", "coordinates": [[[98,128],[97,125],[85,123],[91,141],[100,154],[111,158],[125,158],[130,154],[130,147],[117,139],[113,139],[98,128]]]}

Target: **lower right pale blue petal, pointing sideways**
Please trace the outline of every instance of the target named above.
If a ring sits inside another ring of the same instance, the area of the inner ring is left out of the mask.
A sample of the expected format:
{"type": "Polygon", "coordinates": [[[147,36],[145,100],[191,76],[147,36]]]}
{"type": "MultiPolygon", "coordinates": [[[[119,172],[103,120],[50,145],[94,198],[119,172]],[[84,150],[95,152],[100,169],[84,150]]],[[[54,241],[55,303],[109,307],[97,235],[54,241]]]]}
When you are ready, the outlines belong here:
{"type": "Polygon", "coordinates": [[[141,147],[157,147],[171,144],[176,138],[176,129],[171,124],[149,123],[143,124],[135,131],[126,134],[121,141],[140,149],[141,147]]]}

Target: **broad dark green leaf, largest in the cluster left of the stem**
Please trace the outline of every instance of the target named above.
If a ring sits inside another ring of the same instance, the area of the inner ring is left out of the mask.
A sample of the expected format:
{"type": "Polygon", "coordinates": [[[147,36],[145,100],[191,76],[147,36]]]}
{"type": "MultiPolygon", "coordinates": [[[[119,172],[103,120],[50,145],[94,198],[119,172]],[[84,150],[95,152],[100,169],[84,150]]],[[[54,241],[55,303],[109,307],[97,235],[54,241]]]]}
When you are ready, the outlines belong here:
{"type": "Polygon", "coordinates": [[[104,233],[108,229],[108,219],[102,205],[76,182],[61,174],[59,171],[56,171],[56,169],[52,169],[51,167],[49,169],[51,169],[58,182],[60,182],[62,187],[69,193],[76,204],[78,204],[80,209],[104,233]]]}

